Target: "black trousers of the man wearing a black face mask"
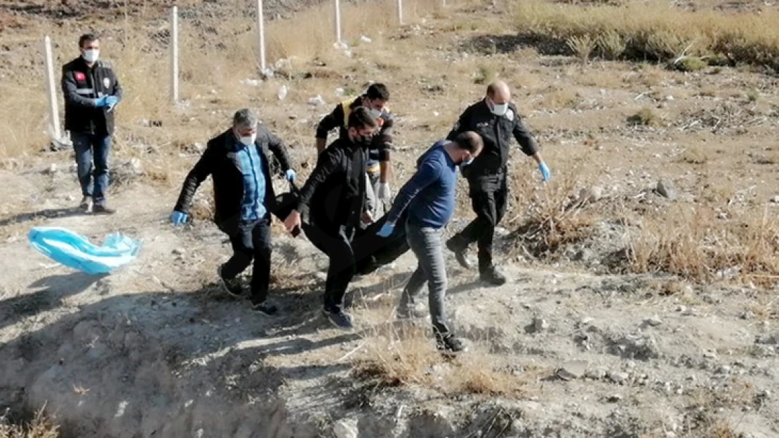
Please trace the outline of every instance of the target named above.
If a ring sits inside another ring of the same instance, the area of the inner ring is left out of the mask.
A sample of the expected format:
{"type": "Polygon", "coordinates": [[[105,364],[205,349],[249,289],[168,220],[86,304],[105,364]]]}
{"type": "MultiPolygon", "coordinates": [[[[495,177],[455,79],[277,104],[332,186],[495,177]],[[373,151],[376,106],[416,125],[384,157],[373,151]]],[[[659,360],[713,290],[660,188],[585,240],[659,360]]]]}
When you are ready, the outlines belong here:
{"type": "Polygon", "coordinates": [[[346,289],[354,277],[354,250],[351,247],[354,229],[340,226],[337,230],[328,233],[310,225],[306,226],[305,235],[315,247],[330,258],[325,282],[324,305],[325,310],[329,312],[340,312],[344,310],[346,289]]]}

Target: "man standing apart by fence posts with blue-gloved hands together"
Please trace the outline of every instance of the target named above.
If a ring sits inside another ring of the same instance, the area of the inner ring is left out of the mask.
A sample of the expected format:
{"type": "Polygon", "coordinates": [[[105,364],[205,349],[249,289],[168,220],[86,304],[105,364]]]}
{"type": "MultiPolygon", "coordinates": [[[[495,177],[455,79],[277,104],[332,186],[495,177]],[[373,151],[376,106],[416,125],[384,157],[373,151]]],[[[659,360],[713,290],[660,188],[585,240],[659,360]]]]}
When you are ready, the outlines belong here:
{"type": "Polygon", "coordinates": [[[79,38],[81,56],[62,67],[65,129],[76,149],[79,183],[85,212],[111,214],[106,205],[108,155],[114,134],[114,108],[122,86],[111,65],[100,61],[100,40],[92,33],[79,38]],[[94,160],[94,175],[93,165],[94,160]]]}

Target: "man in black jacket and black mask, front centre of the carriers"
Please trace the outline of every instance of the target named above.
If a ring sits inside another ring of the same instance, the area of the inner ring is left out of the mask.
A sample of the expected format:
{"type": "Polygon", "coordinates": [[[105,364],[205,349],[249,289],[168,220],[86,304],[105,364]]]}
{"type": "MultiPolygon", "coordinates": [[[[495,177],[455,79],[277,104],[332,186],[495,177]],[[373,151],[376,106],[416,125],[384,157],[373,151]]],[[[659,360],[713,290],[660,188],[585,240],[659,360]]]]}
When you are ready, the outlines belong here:
{"type": "Polygon", "coordinates": [[[284,220],[291,233],[305,226],[308,239],[330,258],[323,312],[338,328],[352,328],[351,316],[344,312],[344,295],[354,276],[354,230],[361,219],[372,221],[365,211],[365,163],[376,128],[375,117],[365,107],[354,108],[346,137],[319,154],[300,191],[298,208],[284,220]]]}

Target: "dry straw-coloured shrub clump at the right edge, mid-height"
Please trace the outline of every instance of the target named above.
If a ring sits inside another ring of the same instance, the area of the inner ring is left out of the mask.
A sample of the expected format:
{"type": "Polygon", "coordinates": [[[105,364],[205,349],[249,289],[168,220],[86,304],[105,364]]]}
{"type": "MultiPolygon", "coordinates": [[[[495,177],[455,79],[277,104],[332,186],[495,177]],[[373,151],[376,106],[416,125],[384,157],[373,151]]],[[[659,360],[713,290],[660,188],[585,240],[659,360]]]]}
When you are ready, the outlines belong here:
{"type": "Polygon", "coordinates": [[[718,220],[705,206],[644,218],[629,247],[633,271],[770,284],[779,275],[779,220],[760,207],[747,208],[727,223],[718,220]]]}

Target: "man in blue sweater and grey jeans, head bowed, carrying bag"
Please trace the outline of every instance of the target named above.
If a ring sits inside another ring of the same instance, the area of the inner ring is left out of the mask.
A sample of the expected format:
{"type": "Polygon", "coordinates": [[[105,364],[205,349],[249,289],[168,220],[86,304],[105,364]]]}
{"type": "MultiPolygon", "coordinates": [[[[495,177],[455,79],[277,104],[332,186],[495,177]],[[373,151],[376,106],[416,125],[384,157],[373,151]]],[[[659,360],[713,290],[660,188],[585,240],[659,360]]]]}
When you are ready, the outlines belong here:
{"type": "Polygon", "coordinates": [[[389,236],[398,218],[408,209],[406,238],[419,266],[411,275],[398,307],[398,317],[411,317],[411,307],[425,282],[436,348],[456,353],[465,349],[446,324],[446,265],[442,251],[443,228],[452,219],[456,206],[457,166],[467,166],[481,152],[484,143],[473,131],[457,135],[453,141],[436,142],[417,161],[417,172],[398,193],[379,236],[389,236]]]}

